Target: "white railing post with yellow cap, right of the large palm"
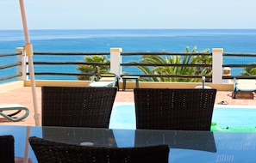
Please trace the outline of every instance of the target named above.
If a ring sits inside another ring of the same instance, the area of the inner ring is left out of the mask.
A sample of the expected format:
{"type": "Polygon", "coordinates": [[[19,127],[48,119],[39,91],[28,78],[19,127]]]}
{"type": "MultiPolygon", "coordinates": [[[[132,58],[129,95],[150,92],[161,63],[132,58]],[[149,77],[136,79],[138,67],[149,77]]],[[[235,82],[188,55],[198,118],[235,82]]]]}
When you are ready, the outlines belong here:
{"type": "Polygon", "coordinates": [[[223,49],[212,49],[212,83],[222,84],[223,49]]]}

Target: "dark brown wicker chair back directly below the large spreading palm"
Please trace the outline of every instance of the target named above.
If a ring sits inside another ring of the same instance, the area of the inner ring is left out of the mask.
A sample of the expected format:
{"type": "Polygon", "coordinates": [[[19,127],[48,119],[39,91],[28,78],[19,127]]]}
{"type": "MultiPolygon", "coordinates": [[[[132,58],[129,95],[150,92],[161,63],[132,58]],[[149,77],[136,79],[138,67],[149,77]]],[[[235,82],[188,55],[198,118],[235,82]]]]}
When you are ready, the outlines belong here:
{"type": "Polygon", "coordinates": [[[137,129],[210,130],[216,89],[135,88],[137,129]]]}

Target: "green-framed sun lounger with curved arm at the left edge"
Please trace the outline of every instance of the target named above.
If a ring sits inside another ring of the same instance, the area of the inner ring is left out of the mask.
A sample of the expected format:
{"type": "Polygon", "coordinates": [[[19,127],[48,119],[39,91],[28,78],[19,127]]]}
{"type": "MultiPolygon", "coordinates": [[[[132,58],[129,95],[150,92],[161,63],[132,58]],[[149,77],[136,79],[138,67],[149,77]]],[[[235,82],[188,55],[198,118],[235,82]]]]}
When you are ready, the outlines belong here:
{"type": "Polygon", "coordinates": [[[24,118],[27,118],[29,114],[29,110],[27,107],[19,105],[19,104],[1,104],[0,105],[0,116],[3,116],[3,118],[7,118],[10,121],[17,122],[21,121],[24,118]],[[25,113],[21,117],[15,117],[18,113],[22,112],[22,110],[25,111],[25,113]],[[11,112],[12,113],[6,114],[5,112],[11,112]]]}

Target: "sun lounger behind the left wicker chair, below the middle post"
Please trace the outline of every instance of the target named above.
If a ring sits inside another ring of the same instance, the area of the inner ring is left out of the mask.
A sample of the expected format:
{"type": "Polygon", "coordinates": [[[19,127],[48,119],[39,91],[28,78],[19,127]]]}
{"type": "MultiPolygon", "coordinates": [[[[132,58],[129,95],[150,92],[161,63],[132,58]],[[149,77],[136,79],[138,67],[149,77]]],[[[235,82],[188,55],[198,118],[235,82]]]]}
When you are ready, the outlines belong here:
{"type": "Polygon", "coordinates": [[[114,73],[99,73],[91,77],[89,88],[118,88],[119,77],[114,73]]]}

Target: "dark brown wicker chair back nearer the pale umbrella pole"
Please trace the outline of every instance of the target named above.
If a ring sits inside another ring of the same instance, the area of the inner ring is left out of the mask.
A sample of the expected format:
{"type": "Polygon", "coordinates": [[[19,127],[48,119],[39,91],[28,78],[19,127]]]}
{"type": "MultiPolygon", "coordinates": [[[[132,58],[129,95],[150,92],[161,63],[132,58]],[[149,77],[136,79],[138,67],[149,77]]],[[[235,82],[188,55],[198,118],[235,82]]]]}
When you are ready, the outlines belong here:
{"type": "Polygon", "coordinates": [[[117,88],[42,87],[43,126],[109,128],[117,88]]]}

